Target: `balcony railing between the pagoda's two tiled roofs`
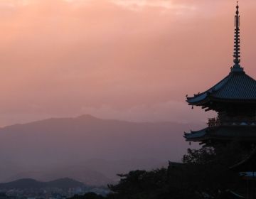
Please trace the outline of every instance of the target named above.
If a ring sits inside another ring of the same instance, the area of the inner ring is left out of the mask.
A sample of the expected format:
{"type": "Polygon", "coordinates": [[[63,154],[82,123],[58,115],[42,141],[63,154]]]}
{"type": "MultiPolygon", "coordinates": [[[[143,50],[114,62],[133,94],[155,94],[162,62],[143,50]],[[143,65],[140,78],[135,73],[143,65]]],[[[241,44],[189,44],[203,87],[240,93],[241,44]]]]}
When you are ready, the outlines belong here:
{"type": "Polygon", "coordinates": [[[220,119],[218,117],[208,119],[208,127],[220,126],[253,126],[256,125],[255,119],[220,119]]]}

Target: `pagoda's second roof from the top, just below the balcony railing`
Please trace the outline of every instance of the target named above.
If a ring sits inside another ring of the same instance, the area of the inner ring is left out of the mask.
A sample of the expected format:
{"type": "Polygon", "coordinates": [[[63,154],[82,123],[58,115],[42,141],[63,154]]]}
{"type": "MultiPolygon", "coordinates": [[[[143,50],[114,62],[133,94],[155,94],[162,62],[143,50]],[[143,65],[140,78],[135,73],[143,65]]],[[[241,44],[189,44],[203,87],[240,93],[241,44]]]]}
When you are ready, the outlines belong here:
{"type": "Polygon", "coordinates": [[[252,140],[256,139],[256,125],[234,125],[234,126],[219,126],[201,129],[199,131],[191,131],[185,133],[186,141],[206,141],[208,139],[242,139],[252,140]]]}

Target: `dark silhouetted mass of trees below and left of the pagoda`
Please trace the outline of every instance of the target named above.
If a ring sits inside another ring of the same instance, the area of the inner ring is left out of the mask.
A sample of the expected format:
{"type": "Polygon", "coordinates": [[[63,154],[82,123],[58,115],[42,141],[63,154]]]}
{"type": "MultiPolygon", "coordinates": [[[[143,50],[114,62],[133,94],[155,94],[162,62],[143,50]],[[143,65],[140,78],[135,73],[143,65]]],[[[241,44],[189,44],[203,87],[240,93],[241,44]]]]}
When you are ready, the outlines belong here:
{"type": "MultiPolygon", "coordinates": [[[[245,154],[246,150],[236,142],[188,149],[183,163],[169,162],[168,168],[119,174],[119,183],[109,185],[112,192],[107,199],[221,198],[220,193],[226,194],[225,190],[235,190],[240,186],[238,174],[229,167],[245,154]]],[[[95,199],[96,196],[90,197],[95,199]]]]}

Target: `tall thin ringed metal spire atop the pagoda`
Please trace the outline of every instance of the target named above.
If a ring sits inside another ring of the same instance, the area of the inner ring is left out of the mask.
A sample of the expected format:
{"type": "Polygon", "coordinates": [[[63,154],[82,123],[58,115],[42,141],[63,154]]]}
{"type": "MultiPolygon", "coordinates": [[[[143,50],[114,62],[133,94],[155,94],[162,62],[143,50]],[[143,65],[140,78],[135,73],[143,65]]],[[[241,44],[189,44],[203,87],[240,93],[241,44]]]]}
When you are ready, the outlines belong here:
{"type": "Polygon", "coordinates": [[[233,68],[231,72],[241,72],[243,68],[240,66],[240,15],[239,15],[239,6],[237,1],[236,12],[235,12],[235,38],[234,38],[234,60],[233,68]]]}

